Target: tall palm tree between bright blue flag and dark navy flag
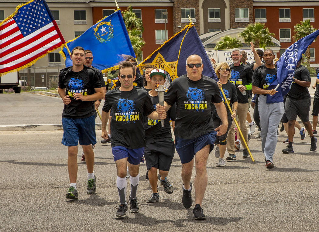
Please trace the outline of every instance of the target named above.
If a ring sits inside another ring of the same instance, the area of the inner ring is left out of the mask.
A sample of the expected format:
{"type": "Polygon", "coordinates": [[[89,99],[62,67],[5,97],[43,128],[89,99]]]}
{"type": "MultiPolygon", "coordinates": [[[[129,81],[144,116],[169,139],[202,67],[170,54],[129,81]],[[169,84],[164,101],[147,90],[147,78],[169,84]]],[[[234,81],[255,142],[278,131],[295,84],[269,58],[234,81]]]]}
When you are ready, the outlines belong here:
{"type": "Polygon", "coordinates": [[[141,33],[144,31],[143,23],[140,18],[132,11],[132,6],[129,6],[127,11],[123,11],[123,20],[127,32],[129,33],[129,38],[133,47],[133,51],[137,60],[142,60],[142,47],[146,44],[141,33]]]}

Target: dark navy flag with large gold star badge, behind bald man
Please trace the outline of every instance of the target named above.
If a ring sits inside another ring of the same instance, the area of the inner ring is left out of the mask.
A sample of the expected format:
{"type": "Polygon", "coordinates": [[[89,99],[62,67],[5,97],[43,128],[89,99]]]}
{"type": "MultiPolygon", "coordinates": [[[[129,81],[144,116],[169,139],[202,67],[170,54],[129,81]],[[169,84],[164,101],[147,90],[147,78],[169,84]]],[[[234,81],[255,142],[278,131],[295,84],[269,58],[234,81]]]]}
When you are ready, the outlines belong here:
{"type": "Polygon", "coordinates": [[[163,69],[166,74],[164,87],[167,88],[175,78],[186,74],[186,59],[192,54],[197,54],[202,58],[204,64],[202,74],[218,81],[214,68],[192,23],[185,26],[143,62],[139,63],[138,68],[140,73],[142,73],[143,66],[147,64],[163,69]]]}

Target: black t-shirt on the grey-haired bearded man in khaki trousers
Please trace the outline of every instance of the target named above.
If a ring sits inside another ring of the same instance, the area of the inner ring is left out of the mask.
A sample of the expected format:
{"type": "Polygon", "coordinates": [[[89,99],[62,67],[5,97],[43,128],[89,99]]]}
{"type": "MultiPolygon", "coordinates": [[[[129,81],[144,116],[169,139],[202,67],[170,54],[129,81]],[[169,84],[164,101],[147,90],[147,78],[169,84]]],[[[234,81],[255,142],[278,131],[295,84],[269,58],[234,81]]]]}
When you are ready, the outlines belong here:
{"type": "Polygon", "coordinates": [[[237,89],[238,103],[248,103],[248,98],[250,98],[250,91],[246,90],[246,95],[242,95],[241,91],[237,88],[239,85],[249,85],[253,76],[253,71],[248,64],[241,63],[238,66],[232,64],[230,66],[231,77],[230,82],[233,82],[237,89]]]}

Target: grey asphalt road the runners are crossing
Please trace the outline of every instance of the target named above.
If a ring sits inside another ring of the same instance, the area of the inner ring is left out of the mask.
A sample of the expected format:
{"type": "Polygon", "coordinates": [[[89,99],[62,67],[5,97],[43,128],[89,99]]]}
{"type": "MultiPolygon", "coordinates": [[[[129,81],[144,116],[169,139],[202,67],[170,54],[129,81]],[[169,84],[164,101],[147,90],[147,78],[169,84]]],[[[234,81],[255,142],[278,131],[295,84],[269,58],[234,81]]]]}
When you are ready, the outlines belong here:
{"type": "MultiPolygon", "coordinates": [[[[0,106],[0,125],[16,121],[59,123],[63,109],[60,98],[28,93],[1,94],[0,106]]],[[[195,221],[192,208],[182,206],[177,153],[168,176],[173,194],[166,194],[160,186],[160,202],[146,203],[152,192],[142,163],[137,191],[140,212],[128,212],[124,219],[115,219],[119,204],[116,168],[110,145],[100,143],[100,131],[96,131],[98,143],[94,149],[96,194],[86,195],[87,171],[80,161],[79,147],[79,199],[65,199],[69,178],[62,134],[0,131],[0,231],[318,231],[318,151],[310,152],[310,138],[301,141],[297,130],[294,154],[282,154],[286,135],[280,132],[272,170],[264,167],[261,140],[254,138],[256,133],[249,144],[254,163],[242,158],[241,148],[236,153],[237,161],[216,167],[218,159],[212,152],[203,201],[205,221],[195,221]]],[[[192,196],[194,199],[195,191],[192,196]]]]}

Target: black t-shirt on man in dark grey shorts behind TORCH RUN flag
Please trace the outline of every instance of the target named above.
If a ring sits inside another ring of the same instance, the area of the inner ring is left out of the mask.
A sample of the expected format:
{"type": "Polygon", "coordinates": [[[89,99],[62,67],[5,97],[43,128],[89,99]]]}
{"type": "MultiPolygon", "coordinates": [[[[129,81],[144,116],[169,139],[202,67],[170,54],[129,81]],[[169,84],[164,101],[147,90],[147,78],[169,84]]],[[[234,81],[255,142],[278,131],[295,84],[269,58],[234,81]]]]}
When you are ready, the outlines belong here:
{"type": "MultiPolygon", "coordinates": [[[[303,65],[300,65],[295,69],[293,77],[300,81],[311,82],[310,73],[303,65]]],[[[288,92],[288,97],[294,100],[307,99],[310,98],[310,94],[307,87],[302,87],[293,81],[291,83],[290,91],[288,92]]]]}

